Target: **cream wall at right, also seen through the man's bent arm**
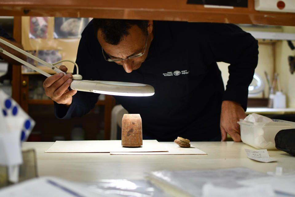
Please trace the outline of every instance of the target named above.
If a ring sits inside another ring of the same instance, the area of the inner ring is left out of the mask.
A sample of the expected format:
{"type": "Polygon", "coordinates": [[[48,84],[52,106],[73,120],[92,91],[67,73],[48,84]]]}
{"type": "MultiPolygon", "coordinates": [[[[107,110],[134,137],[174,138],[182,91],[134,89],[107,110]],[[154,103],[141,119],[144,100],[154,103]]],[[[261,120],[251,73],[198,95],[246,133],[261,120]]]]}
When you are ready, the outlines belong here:
{"type": "MultiPolygon", "coordinates": [[[[245,28],[243,28],[245,30],[245,28]]],[[[248,29],[246,29],[248,30],[248,29]]],[[[249,29],[252,30],[252,29],[249,29]]],[[[265,29],[264,29],[265,30],[265,29]]],[[[279,31],[285,33],[295,33],[295,27],[290,26],[281,26],[280,28],[269,28],[267,31],[279,31]]],[[[295,41],[293,41],[295,46],[295,41]]],[[[264,71],[266,71],[270,76],[270,81],[273,80],[273,50],[275,50],[275,71],[279,75],[279,80],[281,83],[282,91],[286,94],[287,98],[287,107],[295,108],[295,73],[291,74],[289,72],[289,63],[288,56],[295,56],[295,50],[291,50],[287,44],[287,41],[259,41],[259,55],[258,55],[258,65],[255,69],[255,73],[260,75],[265,82],[264,94],[259,94],[255,98],[267,98],[269,95],[269,88],[266,81],[264,71]],[[275,43],[275,47],[272,46],[272,43],[275,43]]],[[[218,62],[218,67],[222,72],[222,79],[224,86],[228,80],[228,66],[229,64],[224,62],[218,62]]]]}

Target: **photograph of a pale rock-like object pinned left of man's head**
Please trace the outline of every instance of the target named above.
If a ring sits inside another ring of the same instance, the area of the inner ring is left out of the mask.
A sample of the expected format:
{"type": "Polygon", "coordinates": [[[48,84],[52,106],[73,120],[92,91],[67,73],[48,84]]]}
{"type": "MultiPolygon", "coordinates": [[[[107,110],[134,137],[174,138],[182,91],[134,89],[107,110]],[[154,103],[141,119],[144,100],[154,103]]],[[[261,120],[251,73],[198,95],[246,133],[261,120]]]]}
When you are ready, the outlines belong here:
{"type": "Polygon", "coordinates": [[[81,38],[82,31],[91,18],[54,18],[53,38],[81,38]]]}

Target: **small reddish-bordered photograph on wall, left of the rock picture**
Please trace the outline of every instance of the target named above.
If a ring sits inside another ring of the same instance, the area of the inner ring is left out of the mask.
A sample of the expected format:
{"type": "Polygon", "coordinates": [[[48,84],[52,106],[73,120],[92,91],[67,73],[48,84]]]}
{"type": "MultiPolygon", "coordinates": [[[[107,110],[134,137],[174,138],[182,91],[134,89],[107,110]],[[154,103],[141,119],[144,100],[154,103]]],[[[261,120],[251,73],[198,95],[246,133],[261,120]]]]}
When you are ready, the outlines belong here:
{"type": "Polygon", "coordinates": [[[47,38],[48,17],[30,17],[29,38],[47,38]]]}

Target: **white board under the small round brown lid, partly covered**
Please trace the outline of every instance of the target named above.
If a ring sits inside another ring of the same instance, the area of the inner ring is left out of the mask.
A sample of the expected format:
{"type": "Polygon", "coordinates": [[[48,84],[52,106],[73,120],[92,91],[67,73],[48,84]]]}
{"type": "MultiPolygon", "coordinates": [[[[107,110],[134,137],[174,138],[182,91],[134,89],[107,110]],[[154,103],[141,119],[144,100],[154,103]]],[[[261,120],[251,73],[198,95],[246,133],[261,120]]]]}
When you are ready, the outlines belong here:
{"type": "Polygon", "coordinates": [[[168,152],[111,152],[110,155],[207,155],[207,153],[194,146],[182,148],[174,142],[160,142],[160,144],[163,145],[168,152]]]}

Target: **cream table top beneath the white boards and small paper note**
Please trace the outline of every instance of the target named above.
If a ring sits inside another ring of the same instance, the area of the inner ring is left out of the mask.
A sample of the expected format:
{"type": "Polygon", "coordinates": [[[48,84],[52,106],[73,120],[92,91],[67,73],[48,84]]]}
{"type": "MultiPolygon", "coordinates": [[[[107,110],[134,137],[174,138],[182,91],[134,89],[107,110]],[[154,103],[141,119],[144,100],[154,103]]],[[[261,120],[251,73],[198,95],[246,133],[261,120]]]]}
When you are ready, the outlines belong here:
{"type": "Polygon", "coordinates": [[[283,151],[268,151],[274,163],[260,163],[246,157],[245,148],[236,142],[191,142],[208,155],[109,155],[109,153],[45,153],[53,142],[25,142],[23,149],[37,153],[39,176],[93,182],[98,179],[144,179],[150,171],[197,170],[246,167],[266,173],[276,167],[295,171],[295,157],[283,151]]]}

